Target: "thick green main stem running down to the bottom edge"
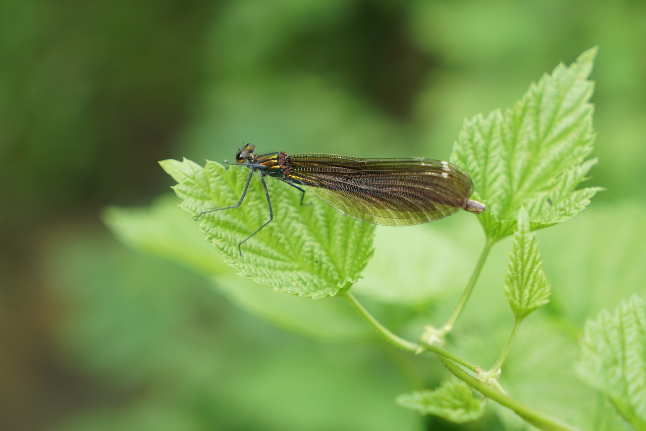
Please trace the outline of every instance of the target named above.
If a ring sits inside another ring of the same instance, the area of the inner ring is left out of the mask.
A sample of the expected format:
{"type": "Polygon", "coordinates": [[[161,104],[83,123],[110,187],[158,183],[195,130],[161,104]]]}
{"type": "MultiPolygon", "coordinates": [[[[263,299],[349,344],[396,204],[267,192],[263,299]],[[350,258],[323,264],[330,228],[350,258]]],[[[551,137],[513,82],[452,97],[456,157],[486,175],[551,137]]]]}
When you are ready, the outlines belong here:
{"type": "Polygon", "coordinates": [[[477,392],[482,393],[483,395],[485,395],[485,397],[494,400],[501,406],[509,408],[521,418],[523,418],[527,423],[536,426],[536,428],[546,431],[578,430],[578,428],[574,428],[573,426],[568,425],[567,423],[563,423],[558,419],[555,419],[554,417],[538,412],[530,406],[527,406],[509,397],[509,395],[505,395],[505,393],[499,392],[499,390],[492,388],[492,386],[479,381],[474,376],[470,375],[462,368],[457,366],[451,360],[445,359],[443,357],[440,357],[440,360],[442,361],[446,369],[449,370],[453,375],[455,375],[455,377],[474,388],[477,392]]]}

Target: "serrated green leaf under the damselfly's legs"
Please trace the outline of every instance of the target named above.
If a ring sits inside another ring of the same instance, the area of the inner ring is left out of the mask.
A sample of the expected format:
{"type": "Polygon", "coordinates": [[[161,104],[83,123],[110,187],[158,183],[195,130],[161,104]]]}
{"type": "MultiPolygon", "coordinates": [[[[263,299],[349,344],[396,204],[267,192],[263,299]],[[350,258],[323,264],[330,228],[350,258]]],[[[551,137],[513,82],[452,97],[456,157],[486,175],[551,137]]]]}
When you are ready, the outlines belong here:
{"type": "MultiPolygon", "coordinates": [[[[244,167],[224,168],[207,161],[204,168],[191,160],[163,160],[162,168],[178,184],[182,208],[193,216],[238,203],[249,176],[244,167]]],[[[239,208],[200,217],[200,229],[227,264],[240,275],[276,291],[321,298],[334,296],[355,283],[372,256],[375,227],[344,216],[301,194],[282,181],[267,178],[274,219],[242,247],[238,243],[269,220],[267,199],[255,175],[239,208]],[[280,203],[280,204],[276,204],[280,203]]]]}

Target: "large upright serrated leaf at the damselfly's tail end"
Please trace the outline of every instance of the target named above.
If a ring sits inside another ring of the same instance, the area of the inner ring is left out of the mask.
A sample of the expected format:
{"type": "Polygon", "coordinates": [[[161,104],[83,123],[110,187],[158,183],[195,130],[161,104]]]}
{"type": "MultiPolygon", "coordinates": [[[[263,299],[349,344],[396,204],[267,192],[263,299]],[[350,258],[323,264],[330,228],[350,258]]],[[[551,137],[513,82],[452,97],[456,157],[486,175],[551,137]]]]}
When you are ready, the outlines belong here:
{"type": "Polygon", "coordinates": [[[596,52],[557,66],[504,114],[497,109],[464,122],[452,162],[469,171],[475,199],[488,205],[479,219],[490,238],[514,231],[521,206],[534,230],[569,219],[601,190],[575,190],[596,163],[585,160],[594,142],[594,83],[587,78],[596,52]]]}

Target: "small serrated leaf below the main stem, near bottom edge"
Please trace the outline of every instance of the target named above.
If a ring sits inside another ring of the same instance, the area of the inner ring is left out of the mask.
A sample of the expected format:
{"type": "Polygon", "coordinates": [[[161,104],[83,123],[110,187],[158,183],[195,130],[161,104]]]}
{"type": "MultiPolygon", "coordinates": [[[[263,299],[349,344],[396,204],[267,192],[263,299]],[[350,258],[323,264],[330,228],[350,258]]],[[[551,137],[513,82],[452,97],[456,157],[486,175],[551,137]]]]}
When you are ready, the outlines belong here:
{"type": "Polygon", "coordinates": [[[483,414],[482,401],[474,397],[466,383],[458,381],[443,382],[435,390],[402,393],[396,402],[421,415],[435,415],[455,423],[474,421],[483,414]]]}

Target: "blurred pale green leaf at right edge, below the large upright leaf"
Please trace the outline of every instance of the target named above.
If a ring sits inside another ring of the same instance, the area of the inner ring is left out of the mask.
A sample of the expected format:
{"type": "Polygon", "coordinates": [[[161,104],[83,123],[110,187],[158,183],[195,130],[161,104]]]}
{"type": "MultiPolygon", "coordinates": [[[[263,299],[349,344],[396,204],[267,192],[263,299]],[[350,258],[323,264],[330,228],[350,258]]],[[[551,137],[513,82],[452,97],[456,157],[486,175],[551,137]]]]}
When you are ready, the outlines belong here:
{"type": "Polygon", "coordinates": [[[634,199],[600,202],[576,223],[541,232],[545,271],[559,287],[548,309],[583,327],[609,304],[646,293],[644,211],[634,199]]]}

